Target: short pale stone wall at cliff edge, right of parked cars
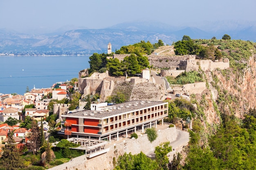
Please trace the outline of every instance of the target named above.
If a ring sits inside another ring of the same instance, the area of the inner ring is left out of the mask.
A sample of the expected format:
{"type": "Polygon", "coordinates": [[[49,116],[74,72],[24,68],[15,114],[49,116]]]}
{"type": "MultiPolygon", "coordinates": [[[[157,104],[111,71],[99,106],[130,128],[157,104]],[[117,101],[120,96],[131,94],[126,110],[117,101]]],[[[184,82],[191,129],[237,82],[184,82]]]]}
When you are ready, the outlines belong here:
{"type": "Polygon", "coordinates": [[[201,94],[202,91],[206,89],[205,82],[199,83],[191,83],[191,84],[184,84],[182,86],[184,93],[191,95],[191,94],[201,94]]]}

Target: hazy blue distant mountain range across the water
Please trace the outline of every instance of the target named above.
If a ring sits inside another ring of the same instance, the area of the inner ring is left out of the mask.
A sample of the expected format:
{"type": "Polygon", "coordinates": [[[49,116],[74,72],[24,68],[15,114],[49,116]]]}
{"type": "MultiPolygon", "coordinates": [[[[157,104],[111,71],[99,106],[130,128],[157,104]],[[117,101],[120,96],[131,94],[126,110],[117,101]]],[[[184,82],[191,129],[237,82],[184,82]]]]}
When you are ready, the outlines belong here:
{"type": "Polygon", "coordinates": [[[0,29],[0,54],[92,54],[106,53],[111,42],[112,51],[121,46],[162,40],[165,44],[181,40],[183,35],[192,39],[221,39],[224,34],[231,39],[256,42],[256,22],[221,21],[192,26],[170,26],[159,22],[130,22],[117,24],[106,29],[72,29],[66,26],[52,33],[25,34],[0,29]],[[69,31],[67,31],[69,30],[69,31]],[[63,31],[63,32],[62,32],[63,31]]]}

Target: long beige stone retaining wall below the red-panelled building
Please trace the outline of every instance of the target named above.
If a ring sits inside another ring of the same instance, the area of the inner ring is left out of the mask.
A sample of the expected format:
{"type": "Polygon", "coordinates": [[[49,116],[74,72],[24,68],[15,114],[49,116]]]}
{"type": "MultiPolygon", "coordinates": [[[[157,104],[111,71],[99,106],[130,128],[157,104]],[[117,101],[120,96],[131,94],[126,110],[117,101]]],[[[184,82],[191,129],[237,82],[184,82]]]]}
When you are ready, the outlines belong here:
{"type": "MultiPolygon", "coordinates": [[[[157,125],[159,127],[160,125],[157,125]]],[[[138,134],[138,139],[121,138],[119,141],[112,141],[107,147],[110,151],[87,159],[85,155],[73,158],[67,163],[63,163],[59,166],[50,168],[49,170],[112,170],[113,158],[115,160],[119,155],[123,155],[125,152],[131,152],[132,155],[139,154],[141,151],[146,155],[155,150],[156,146],[166,141],[174,141],[177,139],[176,128],[168,128],[168,125],[162,126],[161,130],[157,130],[157,139],[150,143],[147,138],[147,134],[138,134]]]]}

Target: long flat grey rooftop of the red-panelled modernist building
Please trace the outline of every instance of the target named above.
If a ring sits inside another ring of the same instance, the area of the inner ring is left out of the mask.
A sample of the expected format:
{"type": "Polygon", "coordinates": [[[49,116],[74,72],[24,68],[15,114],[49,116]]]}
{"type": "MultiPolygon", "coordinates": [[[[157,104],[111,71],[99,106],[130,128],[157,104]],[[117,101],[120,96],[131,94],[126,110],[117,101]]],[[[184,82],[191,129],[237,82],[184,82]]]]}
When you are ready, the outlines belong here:
{"type": "Polygon", "coordinates": [[[163,104],[168,104],[168,102],[155,102],[155,101],[130,101],[121,104],[114,104],[112,106],[99,107],[102,108],[101,111],[95,110],[82,110],[74,113],[67,113],[62,115],[63,117],[83,117],[89,119],[102,119],[105,117],[112,117],[113,115],[121,115],[123,113],[131,113],[141,108],[150,108],[153,106],[159,106],[163,104]]]}

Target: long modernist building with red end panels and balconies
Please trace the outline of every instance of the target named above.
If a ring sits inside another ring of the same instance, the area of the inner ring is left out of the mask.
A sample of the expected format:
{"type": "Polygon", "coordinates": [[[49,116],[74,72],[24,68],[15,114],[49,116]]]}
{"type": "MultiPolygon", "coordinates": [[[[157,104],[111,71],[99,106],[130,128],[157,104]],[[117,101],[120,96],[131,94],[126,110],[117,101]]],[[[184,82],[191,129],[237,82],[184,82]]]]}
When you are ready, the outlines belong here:
{"type": "Polygon", "coordinates": [[[61,115],[60,134],[69,137],[89,139],[119,140],[120,136],[145,128],[157,126],[168,116],[168,102],[130,101],[108,106],[107,103],[92,104],[92,110],[69,112],[61,115]]]}

